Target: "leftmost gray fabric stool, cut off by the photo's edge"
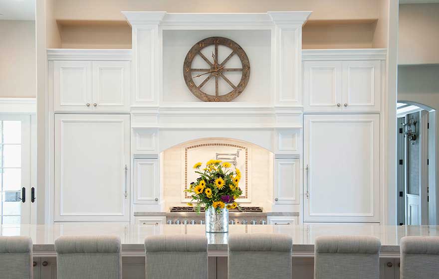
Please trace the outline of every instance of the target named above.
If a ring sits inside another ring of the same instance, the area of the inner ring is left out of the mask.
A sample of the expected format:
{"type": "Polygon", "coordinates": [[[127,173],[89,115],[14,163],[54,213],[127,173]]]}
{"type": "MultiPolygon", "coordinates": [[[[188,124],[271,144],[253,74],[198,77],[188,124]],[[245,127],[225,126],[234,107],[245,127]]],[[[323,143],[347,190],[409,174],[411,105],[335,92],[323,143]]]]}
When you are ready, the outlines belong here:
{"type": "Polygon", "coordinates": [[[0,236],[0,278],[33,278],[32,240],[24,236],[0,236]]]}

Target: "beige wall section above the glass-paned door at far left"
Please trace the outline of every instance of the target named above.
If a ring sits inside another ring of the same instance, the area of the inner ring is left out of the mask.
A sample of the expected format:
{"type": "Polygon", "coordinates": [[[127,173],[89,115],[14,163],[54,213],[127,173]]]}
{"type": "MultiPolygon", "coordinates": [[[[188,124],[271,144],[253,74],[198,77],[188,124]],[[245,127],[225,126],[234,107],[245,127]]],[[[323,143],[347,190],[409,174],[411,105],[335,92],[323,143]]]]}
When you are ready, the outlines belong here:
{"type": "Polygon", "coordinates": [[[0,20],[0,97],[36,96],[35,21],[0,20]]]}

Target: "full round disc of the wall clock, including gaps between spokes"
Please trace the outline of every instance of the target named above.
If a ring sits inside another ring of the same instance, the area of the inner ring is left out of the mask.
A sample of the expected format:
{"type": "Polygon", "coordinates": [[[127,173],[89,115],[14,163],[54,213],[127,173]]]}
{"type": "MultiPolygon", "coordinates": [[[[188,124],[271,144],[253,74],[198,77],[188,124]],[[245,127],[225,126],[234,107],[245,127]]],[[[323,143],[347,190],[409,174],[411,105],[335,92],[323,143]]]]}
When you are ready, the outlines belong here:
{"type": "Polygon", "coordinates": [[[228,102],[247,86],[250,62],[245,51],[234,41],[209,37],[189,50],[183,64],[183,76],[189,90],[198,99],[228,102]]]}

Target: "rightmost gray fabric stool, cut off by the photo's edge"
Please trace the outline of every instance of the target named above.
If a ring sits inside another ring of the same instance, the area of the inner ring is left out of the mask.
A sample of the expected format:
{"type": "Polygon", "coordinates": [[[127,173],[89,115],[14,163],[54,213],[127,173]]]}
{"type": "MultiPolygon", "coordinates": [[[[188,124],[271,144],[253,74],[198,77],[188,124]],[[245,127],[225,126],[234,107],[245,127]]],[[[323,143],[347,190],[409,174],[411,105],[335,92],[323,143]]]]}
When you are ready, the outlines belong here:
{"type": "Polygon", "coordinates": [[[439,237],[401,239],[401,279],[439,279],[439,237]]]}

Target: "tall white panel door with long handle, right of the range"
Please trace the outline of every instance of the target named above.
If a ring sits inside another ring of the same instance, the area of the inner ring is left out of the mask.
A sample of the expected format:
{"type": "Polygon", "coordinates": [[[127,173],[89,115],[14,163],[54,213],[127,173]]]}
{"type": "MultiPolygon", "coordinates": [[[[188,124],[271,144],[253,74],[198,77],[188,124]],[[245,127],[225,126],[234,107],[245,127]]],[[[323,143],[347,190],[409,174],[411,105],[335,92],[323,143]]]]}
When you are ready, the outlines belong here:
{"type": "Polygon", "coordinates": [[[380,221],[378,114],[305,115],[303,164],[304,222],[380,221]]]}

